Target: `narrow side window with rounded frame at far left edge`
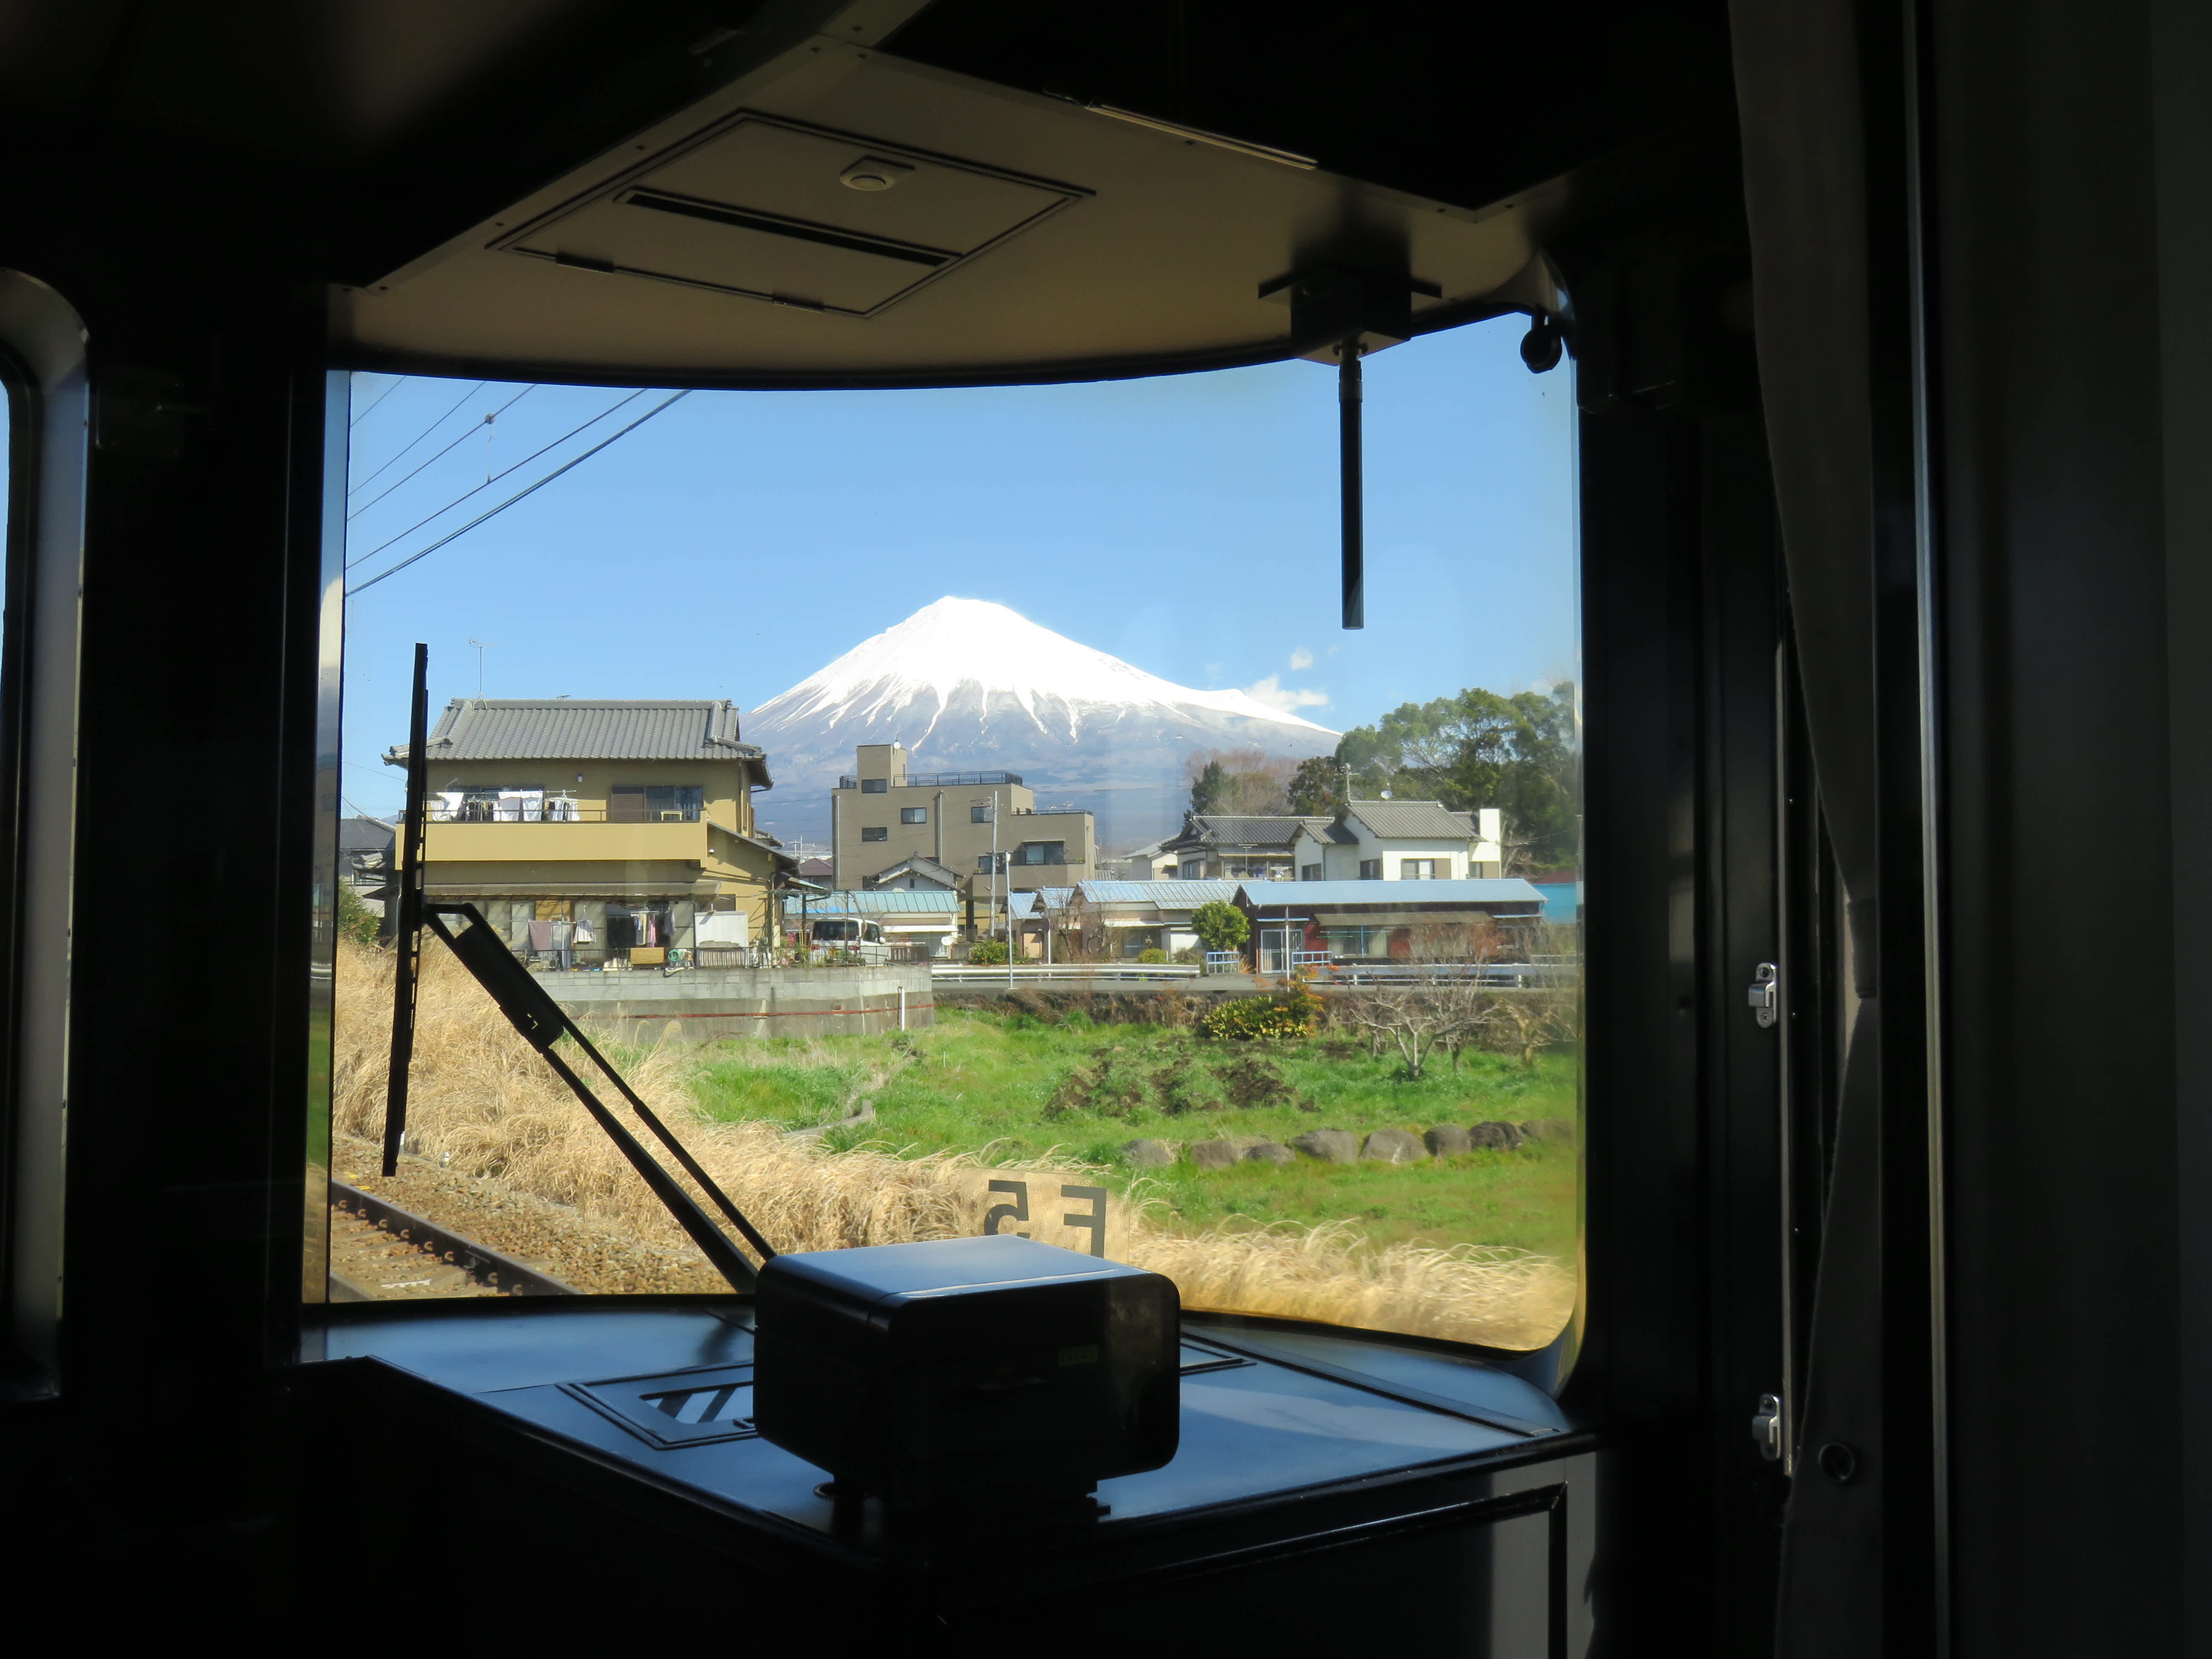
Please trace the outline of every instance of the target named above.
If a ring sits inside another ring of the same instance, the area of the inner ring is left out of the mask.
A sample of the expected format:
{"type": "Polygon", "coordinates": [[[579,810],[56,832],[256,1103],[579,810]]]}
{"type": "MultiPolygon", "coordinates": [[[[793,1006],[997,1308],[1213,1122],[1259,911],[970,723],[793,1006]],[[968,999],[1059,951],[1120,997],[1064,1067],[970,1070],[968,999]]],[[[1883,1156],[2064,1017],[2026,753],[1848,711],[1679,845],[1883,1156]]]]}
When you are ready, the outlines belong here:
{"type": "Polygon", "coordinates": [[[88,385],[84,325],[0,270],[0,1387],[62,1385],[62,1152],[88,385]]]}

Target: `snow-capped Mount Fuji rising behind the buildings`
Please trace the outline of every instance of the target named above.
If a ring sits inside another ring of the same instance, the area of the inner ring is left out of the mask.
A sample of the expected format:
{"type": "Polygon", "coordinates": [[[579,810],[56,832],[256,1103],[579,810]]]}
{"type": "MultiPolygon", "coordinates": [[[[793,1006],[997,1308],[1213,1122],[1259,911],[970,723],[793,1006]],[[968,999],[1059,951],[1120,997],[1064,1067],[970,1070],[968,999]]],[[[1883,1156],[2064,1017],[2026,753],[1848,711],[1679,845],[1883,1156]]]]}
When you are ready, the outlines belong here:
{"type": "Polygon", "coordinates": [[[911,772],[1020,772],[1040,807],[1095,812],[1102,845],[1175,827],[1192,750],[1305,759],[1338,737],[1241,690],[1159,679],[989,599],[922,606],[754,708],[743,732],[776,779],[761,827],[785,841],[827,834],[856,743],[902,743],[911,772]]]}

